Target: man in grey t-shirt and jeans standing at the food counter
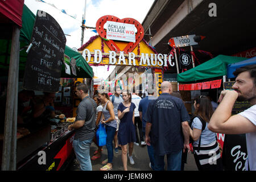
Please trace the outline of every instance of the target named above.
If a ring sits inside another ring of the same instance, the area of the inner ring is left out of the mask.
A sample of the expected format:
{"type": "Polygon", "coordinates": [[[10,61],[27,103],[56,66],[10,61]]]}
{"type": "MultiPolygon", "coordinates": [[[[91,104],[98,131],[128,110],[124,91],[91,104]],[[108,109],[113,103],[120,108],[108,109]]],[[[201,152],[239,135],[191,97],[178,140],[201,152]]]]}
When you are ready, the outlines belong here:
{"type": "Polygon", "coordinates": [[[75,93],[82,101],[77,107],[76,121],[68,126],[68,130],[75,129],[73,148],[76,158],[80,163],[81,170],[92,171],[90,144],[92,144],[95,135],[97,105],[96,102],[89,97],[88,87],[85,84],[77,85],[75,93]]]}

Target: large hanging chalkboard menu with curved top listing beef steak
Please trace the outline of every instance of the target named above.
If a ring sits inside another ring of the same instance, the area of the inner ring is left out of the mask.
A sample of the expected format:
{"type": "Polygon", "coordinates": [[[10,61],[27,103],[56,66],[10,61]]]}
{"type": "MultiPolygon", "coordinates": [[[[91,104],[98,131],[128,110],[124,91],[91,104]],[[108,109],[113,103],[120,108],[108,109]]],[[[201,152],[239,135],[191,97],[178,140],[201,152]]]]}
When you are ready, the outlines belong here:
{"type": "Polygon", "coordinates": [[[51,15],[38,10],[31,36],[23,88],[55,93],[59,91],[66,38],[51,15]]]}

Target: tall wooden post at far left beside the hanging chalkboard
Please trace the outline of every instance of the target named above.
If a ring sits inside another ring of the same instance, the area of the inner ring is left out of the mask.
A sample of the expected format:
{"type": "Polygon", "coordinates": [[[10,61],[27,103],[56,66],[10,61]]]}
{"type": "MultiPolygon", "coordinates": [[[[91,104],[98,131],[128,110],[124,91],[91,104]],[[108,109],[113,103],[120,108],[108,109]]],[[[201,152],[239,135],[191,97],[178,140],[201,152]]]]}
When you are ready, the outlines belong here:
{"type": "Polygon", "coordinates": [[[3,135],[2,171],[16,170],[16,131],[18,113],[19,28],[14,25],[11,40],[7,84],[5,130],[3,135]]]}

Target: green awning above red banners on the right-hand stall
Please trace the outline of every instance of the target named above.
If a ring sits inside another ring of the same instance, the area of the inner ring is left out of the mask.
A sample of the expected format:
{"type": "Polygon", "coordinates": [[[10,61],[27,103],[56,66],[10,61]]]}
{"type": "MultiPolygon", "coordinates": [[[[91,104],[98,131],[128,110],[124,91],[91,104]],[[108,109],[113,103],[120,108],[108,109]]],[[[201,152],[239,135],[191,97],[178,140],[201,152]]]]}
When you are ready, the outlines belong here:
{"type": "Polygon", "coordinates": [[[218,55],[213,59],[177,75],[177,82],[196,82],[227,74],[227,65],[246,60],[246,57],[218,55]]]}

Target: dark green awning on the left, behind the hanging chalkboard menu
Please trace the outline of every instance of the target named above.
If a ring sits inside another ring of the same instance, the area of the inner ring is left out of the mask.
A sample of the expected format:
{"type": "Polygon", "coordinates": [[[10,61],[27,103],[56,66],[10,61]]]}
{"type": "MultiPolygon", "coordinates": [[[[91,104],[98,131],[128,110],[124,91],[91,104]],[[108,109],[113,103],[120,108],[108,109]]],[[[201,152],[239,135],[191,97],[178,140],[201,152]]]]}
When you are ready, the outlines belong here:
{"type": "MultiPolygon", "coordinates": [[[[23,76],[24,68],[27,61],[26,49],[30,44],[30,39],[32,35],[32,30],[34,27],[35,15],[28,9],[26,5],[23,6],[23,15],[22,15],[22,29],[20,30],[20,60],[19,60],[19,76],[23,76]]],[[[10,49],[11,49],[11,40],[0,39],[0,76],[7,76],[6,74],[9,71],[9,62],[10,62],[10,49]]],[[[61,71],[61,77],[78,77],[78,78],[93,78],[93,69],[85,61],[84,57],[79,52],[74,51],[68,46],[65,46],[65,55],[68,55],[70,58],[76,60],[76,74],[77,76],[67,75],[65,73],[65,66],[61,71]]],[[[70,65],[70,64],[69,64],[70,65]]]]}

